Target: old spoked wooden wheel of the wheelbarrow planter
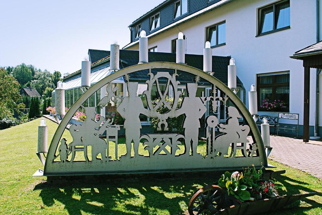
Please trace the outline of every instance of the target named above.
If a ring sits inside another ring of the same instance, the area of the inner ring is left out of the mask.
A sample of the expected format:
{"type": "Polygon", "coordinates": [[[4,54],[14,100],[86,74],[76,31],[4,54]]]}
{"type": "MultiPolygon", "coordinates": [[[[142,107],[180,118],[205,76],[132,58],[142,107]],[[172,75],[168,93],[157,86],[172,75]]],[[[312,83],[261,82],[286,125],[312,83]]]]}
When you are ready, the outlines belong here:
{"type": "Polygon", "coordinates": [[[189,202],[190,215],[214,214],[225,201],[225,191],[216,185],[208,185],[194,193],[189,202]]]}

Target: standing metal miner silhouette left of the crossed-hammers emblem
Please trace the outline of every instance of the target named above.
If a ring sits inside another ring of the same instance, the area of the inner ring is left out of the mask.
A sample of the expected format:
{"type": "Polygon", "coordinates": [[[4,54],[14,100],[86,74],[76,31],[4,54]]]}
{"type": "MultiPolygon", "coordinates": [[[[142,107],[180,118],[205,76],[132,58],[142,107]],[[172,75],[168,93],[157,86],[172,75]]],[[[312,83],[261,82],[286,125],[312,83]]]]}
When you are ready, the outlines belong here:
{"type": "MultiPolygon", "coordinates": [[[[141,121],[140,114],[148,115],[149,112],[144,108],[141,97],[137,96],[137,82],[128,82],[128,95],[125,96],[116,110],[124,118],[124,129],[126,139],[126,158],[131,157],[132,140],[134,146],[134,156],[138,155],[140,144],[141,121]]],[[[124,158],[123,158],[124,159],[124,158]]]]}

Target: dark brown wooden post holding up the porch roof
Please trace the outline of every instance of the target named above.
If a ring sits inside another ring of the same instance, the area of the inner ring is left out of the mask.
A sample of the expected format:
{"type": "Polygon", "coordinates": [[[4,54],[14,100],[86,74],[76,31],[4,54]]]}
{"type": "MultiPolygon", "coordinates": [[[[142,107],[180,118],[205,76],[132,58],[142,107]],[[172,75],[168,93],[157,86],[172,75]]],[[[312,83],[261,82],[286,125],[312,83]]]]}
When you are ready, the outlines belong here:
{"type": "Polygon", "coordinates": [[[304,67],[304,111],[303,111],[303,142],[309,140],[310,121],[310,67],[304,67]]]}

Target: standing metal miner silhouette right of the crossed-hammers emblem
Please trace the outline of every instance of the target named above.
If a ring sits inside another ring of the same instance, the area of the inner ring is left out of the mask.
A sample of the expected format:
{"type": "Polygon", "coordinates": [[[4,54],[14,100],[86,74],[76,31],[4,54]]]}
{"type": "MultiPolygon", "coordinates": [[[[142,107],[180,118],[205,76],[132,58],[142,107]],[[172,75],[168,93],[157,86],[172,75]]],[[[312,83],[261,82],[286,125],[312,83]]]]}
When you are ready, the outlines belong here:
{"type": "Polygon", "coordinates": [[[185,134],[186,155],[189,155],[192,145],[192,155],[197,154],[198,134],[200,128],[199,119],[204,116],[207,108],[204,106],[200,97],[196,97],[198,85],[195,83],[187,84],[188,97],[184,97],[181,108],[176,110],[175,117],[185,114],[183,122],[185,134]]]}

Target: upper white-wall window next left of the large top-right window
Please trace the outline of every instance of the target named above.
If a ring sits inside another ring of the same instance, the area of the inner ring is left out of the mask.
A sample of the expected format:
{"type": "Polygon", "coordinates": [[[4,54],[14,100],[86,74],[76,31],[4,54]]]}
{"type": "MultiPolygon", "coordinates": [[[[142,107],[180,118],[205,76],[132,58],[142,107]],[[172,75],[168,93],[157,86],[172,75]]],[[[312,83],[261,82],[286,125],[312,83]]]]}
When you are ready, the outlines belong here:
{"type": "Polygon", "coordinates": [[[211,47],[226,44],[226,22],[214,24],[206,29],[206,40],[211,47]]]}

